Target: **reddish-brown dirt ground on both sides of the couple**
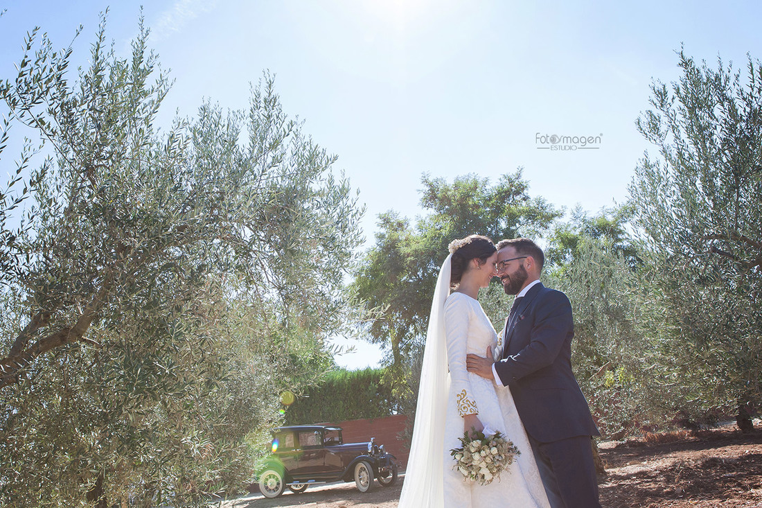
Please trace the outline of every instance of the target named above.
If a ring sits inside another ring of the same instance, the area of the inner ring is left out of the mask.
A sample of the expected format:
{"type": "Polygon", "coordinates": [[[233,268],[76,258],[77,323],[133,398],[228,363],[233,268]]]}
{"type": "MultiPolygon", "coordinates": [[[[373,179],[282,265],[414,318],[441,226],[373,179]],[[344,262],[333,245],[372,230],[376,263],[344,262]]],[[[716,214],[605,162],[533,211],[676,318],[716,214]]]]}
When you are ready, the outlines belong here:
{"type": "MultiPolygon", "coordinates": [[[[600,443],[607,476],[600,480],[604,508],[762,507],[762,430],[743,435],[734,426],[695,432],[649,434],[642,439],[600,443]]],[[[314,506],[396,508],[404,474],[392,487],[360,494],[354,483],[287,491],[268,500],[240,497],[221,508],[314,506]]]]}

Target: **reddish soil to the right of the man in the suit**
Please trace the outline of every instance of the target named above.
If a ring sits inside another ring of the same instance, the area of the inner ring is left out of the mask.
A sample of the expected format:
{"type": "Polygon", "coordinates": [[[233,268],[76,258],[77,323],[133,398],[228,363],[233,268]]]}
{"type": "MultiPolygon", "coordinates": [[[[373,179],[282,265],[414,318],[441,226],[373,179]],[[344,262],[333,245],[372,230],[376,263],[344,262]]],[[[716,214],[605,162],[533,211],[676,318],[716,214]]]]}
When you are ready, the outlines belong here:
{"type": "Polygon", "coordinates": [[[732,427],[601,443],[603,506],[762,506],[762,431],[732,427]]]}

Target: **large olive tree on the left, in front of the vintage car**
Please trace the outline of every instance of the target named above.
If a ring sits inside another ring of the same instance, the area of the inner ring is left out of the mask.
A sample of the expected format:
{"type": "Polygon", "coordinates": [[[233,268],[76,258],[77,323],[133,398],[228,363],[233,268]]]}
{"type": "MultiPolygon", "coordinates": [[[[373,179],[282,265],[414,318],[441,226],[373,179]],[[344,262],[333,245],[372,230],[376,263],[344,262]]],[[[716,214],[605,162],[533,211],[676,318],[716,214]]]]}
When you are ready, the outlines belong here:
{"type": "Polygon", "coordinates": [[[247,439],[343,326],[361,214],[270,76],[245,111],[160,130],[146,47],[89,64],[30,33],[0,83],[33,133],[0,194],[0,504],[185,506],[251,474],[247,439]],[[41,163],[37,157],[46,156],[41,163]]]}

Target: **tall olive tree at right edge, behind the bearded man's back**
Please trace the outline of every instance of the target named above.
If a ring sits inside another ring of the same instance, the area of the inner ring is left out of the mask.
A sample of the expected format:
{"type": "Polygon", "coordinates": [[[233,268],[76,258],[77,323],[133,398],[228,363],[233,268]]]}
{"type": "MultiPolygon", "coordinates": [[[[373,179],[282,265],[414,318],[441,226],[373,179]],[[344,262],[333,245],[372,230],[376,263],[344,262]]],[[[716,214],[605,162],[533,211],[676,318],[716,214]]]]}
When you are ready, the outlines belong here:
{"type": "Polygon", "coordinates": [[[762,68],[679,53],[680,79],[652,85],[637,126],[654,144],[630,186],[650,271],[654,382],[693,413],[762,400],[762,68]]]}

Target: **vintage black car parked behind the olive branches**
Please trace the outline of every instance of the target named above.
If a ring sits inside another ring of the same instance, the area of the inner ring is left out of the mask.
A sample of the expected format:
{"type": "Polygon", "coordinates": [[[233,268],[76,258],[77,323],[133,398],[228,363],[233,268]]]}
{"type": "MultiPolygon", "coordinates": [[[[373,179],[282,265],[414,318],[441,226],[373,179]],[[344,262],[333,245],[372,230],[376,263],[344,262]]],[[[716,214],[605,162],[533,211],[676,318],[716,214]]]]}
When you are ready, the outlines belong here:
{"type": "Polygon", "coordinates": [[[345,443],[341,428],[297,425],[273,429],[273,453],[259,474],[259,490],[278,497],[289,487],[301,493],[310,484],[353,481],[360,492],[373,487],[373,478],[389,487],[397,480],[397,459],[383,445],[345,443]]]}

